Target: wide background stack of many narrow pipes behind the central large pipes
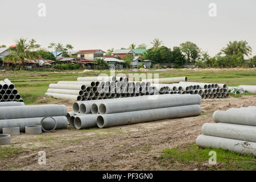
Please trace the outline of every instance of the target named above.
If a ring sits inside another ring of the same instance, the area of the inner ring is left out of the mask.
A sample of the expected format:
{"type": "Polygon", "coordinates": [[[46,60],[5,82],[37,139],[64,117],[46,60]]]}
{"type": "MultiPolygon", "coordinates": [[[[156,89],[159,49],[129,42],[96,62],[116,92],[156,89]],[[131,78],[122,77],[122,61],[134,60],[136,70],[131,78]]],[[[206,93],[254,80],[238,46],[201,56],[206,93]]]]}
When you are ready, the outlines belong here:
{"type": "Polygon", "coordinates": [[[127,77],[79,77],[77,81],[50,84],[47,96],[76,101],[170,94],[168,86],[146,81],[129,81],[127,77]]]}

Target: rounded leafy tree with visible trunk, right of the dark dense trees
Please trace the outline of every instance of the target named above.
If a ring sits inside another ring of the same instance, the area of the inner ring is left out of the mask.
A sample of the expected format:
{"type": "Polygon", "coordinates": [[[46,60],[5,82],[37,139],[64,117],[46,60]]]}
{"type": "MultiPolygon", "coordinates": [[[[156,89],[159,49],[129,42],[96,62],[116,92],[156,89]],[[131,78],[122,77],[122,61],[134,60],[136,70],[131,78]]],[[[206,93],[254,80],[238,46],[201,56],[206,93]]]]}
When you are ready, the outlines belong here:
{"type": "Polygon", "coordinates": [[[185,42],[180,44],[181,51],[185,54],[187,63],[195,63],[200,57],[200,49],[195,43],[185,42]]]}

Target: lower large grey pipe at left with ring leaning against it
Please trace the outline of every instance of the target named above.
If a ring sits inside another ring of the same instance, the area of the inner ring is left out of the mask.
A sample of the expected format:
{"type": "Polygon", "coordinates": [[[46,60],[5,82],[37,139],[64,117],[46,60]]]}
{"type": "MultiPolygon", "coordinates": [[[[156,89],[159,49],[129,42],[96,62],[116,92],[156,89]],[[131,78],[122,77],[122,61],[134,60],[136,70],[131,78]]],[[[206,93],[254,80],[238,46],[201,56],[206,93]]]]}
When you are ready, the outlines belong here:
{"type": "MultiPolygon", "coordinates": [[[[0,120],[0,133],[2,133],[3,127],[19,127],[21,132],[25,131],[25,126],[40,125],[41,120],[44,117],[38,118],[20,118],[20,119],[1,119],[0,120]]],[[[65,116],[53,117],[57,122],[56,129],[66,129],[68,126],[68,119],[65,116]]],[[[42,124],[46,130],[51,130],[55,126],[55,122],[51,118],[46,118],[42,124]]]]}

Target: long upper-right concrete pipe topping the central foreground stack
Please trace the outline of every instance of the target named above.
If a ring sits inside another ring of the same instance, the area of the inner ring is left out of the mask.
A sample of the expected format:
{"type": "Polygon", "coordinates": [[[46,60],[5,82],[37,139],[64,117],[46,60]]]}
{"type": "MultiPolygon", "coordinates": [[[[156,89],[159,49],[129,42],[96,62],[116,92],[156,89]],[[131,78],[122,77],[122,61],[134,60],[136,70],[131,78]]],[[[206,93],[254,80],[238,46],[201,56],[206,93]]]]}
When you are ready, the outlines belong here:
{"type": "Polygon", "coordinates": [[[122,113],[135,110],[146,110],[146,109],[157,109],[163,107],[172,106],[183,106],[183,105],[195,105],[200,104],[202,98],[199,95],[173,95],[164,94],[157,98],[155,96],[130,100],[120,101],[102,101],[98,107],[100,114],[110,114],[110,113],[122,113]]]}

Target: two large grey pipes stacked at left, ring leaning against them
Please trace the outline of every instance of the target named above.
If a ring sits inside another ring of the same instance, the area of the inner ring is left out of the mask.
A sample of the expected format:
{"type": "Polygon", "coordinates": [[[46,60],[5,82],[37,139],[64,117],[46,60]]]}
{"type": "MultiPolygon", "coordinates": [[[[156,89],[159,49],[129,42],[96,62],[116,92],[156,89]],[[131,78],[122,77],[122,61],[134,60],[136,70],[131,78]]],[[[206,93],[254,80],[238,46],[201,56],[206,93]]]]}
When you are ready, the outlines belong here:
{"type": "Polygon", "coordinates": [[[26,126],[42,125],[44,131],[65,129],[68,126],[67,107],[65,105],[30,105],[23,102],[1,102],[0,133],[3,128],[19,127],[20,132],[26,126]]]}

